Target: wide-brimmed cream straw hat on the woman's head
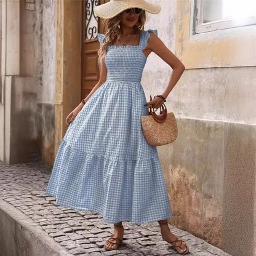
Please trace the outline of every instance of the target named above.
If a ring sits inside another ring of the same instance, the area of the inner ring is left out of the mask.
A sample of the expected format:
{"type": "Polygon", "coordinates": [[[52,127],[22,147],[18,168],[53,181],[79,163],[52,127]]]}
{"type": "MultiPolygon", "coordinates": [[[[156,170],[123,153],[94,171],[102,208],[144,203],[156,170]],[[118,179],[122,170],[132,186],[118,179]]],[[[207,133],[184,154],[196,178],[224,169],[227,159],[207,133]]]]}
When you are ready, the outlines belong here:
{"type": "Polygon", "coordinates": [[[146,0],[110,0],[105,4],[95,6],[94,12],[100,18],[113,18],[123,10],[133,7],[141,8],[151,14],[158,14],[161,10],[160,4],[146,0]]]}

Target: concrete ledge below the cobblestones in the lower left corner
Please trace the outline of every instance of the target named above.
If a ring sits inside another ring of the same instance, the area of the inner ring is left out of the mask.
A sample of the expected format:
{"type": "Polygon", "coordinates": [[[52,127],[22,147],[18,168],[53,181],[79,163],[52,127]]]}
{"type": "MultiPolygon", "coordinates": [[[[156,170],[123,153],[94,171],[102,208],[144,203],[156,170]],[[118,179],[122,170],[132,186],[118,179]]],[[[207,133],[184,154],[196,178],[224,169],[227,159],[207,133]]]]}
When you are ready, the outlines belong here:
{"type": "Polygon", "coordinates": [[[0,199],[1,256],[72,256],[23,212],[0,199]]]}

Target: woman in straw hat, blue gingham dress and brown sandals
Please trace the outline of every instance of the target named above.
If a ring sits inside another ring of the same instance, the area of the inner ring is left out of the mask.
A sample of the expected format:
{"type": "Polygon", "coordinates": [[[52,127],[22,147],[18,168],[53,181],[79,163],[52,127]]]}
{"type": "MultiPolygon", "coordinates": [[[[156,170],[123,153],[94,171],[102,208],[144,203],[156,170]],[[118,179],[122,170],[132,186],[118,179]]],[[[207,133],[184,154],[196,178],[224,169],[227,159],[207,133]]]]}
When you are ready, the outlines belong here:
{"type": "Polygon", "coordinates": [[[166,183],[156,146],[142,132],[141,116],[148,104],[159,108],[166,101],[185,66],[158,38],[157,30],[143,30],[146,11],[161,6],[145,0],[111,0],[94,7],[104,19],[106,34],[98,34],[100,80],[66,117],[68,130],[60,143],[46,193],[56,203],[90,210],[114,224],[105,249],[122,242],[122,221],[158,221],[162,238],[179,254],[188,246],[169,230],[172,217],[166,183]],[[146,102],[140,84],[146,58],[155,52],[172,68],[162,95],[146,102]]]}

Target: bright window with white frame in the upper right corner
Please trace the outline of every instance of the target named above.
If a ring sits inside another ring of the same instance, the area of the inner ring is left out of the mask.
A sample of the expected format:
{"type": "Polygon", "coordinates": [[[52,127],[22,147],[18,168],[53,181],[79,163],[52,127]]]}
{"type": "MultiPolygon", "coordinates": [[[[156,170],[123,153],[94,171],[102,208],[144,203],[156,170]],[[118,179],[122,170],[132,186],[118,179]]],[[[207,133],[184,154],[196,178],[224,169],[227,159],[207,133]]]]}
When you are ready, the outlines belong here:
{"type": "Polygon", "coordinates": [[[195,0],[193,34],[256,25],[256,0],[195,0]]]}

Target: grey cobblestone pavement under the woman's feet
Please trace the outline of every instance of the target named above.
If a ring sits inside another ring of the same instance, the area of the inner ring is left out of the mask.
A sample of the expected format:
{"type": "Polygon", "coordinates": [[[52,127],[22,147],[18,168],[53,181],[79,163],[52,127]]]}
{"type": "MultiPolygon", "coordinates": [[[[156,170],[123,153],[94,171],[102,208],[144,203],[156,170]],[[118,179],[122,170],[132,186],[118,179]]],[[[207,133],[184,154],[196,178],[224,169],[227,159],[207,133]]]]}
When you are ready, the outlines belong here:
{"type": "MultiPolygon", "coordinates": [[[[123,222],[124,245],[118,250],[105,250],[103,245],[113,234],[113,224],[106,223],[94,212],[57,206],[55,198],[45,193],[51,170],[52,167],[42,161],[12,165],[0,161],[0,198],[30,217],[70,254],[180,255],[162,240],[158,222],[141,225],[123,222]]],[[[187,231],[169,226],[172,233],[190,246],[190,253],[186,255],[230,255],[187,231]]]]}

